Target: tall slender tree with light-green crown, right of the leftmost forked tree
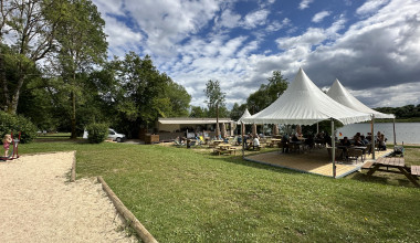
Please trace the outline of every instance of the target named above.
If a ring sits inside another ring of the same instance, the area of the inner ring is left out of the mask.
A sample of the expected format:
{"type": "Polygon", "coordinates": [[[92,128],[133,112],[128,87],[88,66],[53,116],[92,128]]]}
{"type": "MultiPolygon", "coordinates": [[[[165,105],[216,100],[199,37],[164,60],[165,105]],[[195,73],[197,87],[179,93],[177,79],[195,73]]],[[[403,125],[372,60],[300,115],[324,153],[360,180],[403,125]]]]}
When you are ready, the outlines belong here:
{"type": "MultiPolygon", "coordinates": [[[[76,102],[82,98],[84,73],[106,59],[105,21],[90,0],[63,0],[65,12],[56,27],[57,60],[63,87],[70,92],[72,138],[76,138],[76,102]]],[[[49,14],[55,19],[55,14],[49,14]]]]}

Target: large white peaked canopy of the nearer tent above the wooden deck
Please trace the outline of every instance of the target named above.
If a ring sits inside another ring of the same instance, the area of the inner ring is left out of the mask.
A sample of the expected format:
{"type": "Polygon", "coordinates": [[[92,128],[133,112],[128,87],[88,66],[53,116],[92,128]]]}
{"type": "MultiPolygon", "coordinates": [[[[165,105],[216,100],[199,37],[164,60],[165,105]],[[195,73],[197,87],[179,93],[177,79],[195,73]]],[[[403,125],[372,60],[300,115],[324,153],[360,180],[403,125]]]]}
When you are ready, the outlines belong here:
{"type": "Polygon", "coordinates": [[[255,124],[313,125],[334,118],[344,125],[370,120],[370,115],[348,108],[322,92],[300,68],[288,88],[260,113],[243,118],[255,124]]]}

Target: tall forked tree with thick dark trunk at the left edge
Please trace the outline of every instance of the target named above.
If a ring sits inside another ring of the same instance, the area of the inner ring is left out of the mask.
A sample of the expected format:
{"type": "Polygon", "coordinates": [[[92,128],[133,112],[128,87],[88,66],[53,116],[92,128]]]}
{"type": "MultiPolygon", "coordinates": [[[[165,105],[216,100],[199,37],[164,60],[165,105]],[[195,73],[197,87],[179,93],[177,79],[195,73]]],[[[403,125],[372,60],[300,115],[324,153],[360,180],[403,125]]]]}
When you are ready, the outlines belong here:
{"type": "Polygon", "coordinates": [[[56,23],[60,18],[46,20],[48,12],[56,12],[60,0],[0,0],[0,82],[4,110],[15,114],[21,88],[31,66],[53,50],[56,23]],[[7,81],[3,62],[3,38],[10,36],[17,60],[14,83],[7,81]]]}

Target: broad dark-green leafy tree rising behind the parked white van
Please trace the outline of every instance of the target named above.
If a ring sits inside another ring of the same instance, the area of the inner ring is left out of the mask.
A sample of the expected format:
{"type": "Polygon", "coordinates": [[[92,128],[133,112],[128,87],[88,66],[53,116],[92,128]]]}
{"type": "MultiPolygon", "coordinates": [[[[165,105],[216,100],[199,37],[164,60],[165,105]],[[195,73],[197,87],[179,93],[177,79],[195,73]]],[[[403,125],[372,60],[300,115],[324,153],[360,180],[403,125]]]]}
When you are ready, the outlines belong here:
{"type": "Polygon", "coordinates": [[[191,96],[159,73],[148,55],[141,59],[129,52],[124,60],[115,57],[95,76],[104,104],[113,113],[112,123],[129,137],[158,117],[188,115],[191,96]]]}

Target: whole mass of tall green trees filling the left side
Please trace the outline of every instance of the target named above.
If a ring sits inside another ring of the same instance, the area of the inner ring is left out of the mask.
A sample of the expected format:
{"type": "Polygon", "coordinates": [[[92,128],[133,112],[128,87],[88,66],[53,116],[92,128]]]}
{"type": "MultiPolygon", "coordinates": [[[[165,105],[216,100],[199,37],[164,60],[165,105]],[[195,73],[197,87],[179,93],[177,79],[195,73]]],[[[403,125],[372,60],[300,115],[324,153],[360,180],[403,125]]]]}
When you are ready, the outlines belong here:
{"type": "Polygon", "coordinates": [[[107,59],[91,0],[0,0],[0,104],[41,130],[106,123],[129,137],[157,117],[188,116],[190,95],[150,56],[107,59]]]}

